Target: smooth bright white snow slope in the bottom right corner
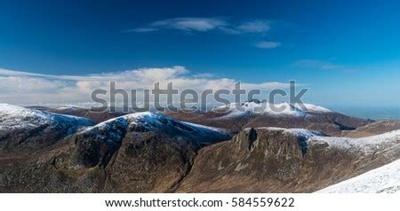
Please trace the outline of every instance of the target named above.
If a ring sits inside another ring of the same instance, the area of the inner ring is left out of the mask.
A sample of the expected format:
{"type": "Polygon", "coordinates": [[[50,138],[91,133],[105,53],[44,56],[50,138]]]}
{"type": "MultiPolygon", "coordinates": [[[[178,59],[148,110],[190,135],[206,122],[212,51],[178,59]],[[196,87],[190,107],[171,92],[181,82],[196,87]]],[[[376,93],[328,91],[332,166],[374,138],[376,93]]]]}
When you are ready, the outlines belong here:
{"type": "Polygon", "coordinates": [[[316,192],[330,193],[398,193],[400,192],[400,160],[373,169],[339,184],[316,192]]]}

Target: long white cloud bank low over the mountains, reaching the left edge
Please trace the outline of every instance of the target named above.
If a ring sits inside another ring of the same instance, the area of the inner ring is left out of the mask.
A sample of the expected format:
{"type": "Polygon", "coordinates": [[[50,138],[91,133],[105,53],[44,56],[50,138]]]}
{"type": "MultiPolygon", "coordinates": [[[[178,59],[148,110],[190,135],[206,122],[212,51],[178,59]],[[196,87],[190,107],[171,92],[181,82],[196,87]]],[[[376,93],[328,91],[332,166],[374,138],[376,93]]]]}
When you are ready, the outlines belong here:
{"type": "MultiPolygon", "coordinates": [[[[236,80],[216,78],[212,74],[189,74],[184,66],[140,68],[108,74],[54,75],[33,74],[0,68],[0,102],[11,104],[84,104],[91,102],[93,90],[109,90],[109,82],[116,89],[151,90],[155,82],[165,89],[168,82],[178,90],[220,90],[235,88],[236,80]]],[[[284,82],[242,82],[246,90],[286,89],[284,82]]]]}

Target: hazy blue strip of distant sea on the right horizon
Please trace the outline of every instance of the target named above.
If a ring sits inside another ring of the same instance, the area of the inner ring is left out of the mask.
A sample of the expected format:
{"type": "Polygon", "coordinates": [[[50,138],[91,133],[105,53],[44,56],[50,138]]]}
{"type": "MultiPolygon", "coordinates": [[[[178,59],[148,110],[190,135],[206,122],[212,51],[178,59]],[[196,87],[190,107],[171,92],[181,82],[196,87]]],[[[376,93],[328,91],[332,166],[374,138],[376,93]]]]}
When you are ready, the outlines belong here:
{"type": "Polygon", "coordinates": [[[372,120],[400,120],[400,106],[327,106],[329,109],[372,120]]]}

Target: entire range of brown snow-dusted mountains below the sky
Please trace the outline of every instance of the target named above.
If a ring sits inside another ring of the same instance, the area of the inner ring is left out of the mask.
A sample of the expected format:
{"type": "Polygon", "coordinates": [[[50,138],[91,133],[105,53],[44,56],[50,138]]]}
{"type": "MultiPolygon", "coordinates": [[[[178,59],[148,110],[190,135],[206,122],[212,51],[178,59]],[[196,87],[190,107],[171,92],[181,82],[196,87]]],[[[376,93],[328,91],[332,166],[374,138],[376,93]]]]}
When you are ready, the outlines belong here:
{"type": "Polygon", "coordinates": [[[254,100],[192,113],[0,104],[0,191],[357,192],[363,178],[398,166],[398,121],[276,106],[286,109],[254,100]]]}

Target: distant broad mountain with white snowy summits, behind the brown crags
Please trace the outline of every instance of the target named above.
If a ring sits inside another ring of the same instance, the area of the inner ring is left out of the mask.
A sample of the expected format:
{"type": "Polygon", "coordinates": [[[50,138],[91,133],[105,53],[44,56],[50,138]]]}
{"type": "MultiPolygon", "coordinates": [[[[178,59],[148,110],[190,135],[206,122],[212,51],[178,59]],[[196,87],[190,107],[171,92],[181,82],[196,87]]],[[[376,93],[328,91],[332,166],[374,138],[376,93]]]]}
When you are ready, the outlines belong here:
{"type": "Polygon", "coordinates": [[[234,133],[246,128],[278,127],[320,130],[335,137],[340,137],[344,130],[353,130],[373,122],[335,113],[321,106],[304,106],[307,109],[289,103],[272,105],[251,100],[242,104],[220,106],[206,113],[168,114],[181,121],[225,128],[234,133]]]}

